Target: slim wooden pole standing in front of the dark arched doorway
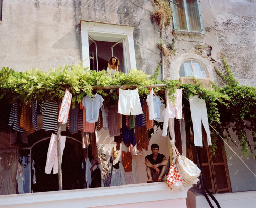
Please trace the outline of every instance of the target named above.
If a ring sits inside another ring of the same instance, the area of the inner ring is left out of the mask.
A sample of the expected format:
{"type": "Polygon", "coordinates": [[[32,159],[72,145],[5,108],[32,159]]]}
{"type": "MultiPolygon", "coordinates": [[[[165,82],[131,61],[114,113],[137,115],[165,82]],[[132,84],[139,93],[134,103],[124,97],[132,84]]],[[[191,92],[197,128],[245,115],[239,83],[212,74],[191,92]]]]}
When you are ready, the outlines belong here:
{"type": "MultiPolygon", "coordinates": [[[[58,111],[61,106],[61,99],[58,100],[58,111]]],[[[59,113],[58,113],[59,114],[59,113]]],[[[61,168],[61,126],[60,122],[58,121],[57,125],[57,153],[58,153],[58,178],[59,178],[59,190],[63,190],[63,184],[62,184],[62,168],[61,168]]]]}

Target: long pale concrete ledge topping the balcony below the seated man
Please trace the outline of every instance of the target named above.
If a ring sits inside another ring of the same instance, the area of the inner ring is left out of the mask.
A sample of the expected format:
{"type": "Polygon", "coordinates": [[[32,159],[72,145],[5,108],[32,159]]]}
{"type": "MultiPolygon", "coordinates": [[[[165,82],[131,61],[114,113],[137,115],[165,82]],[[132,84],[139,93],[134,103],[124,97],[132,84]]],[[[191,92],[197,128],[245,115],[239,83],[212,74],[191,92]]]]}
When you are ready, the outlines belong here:
{"type": "Polygon", "coordinates": [[[116,187],[13,194],[0,196],[1,207],[99,207],[118,204],[184,199],[190,187],[170,190],[166,183],[144,183],[116,187]]]}

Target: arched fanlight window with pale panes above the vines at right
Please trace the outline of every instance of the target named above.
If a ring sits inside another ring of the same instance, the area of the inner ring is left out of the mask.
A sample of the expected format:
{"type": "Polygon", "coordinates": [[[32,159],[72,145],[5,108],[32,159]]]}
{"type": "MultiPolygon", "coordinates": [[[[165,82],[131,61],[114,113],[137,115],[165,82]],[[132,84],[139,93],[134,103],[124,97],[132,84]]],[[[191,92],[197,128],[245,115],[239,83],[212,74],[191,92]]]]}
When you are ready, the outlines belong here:
{"type": "Polygon", "coordinates": [[[187,60],[180,66],[180,77],[209,78],[205,68],[195,60],[187,60]]]}

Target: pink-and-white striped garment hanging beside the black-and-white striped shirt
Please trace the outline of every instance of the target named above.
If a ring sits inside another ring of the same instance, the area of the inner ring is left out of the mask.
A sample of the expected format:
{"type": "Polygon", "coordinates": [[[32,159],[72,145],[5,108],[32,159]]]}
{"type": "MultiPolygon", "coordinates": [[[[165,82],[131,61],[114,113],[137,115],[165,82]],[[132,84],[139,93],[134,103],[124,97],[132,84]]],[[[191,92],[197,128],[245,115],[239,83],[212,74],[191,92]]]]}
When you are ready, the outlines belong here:
{"type": "Polygon", "coordinates": [[[69,90],[66,89],[65,95],[63,97],[61,107],[59,110],[59,118],[58,118],[58,121],[62,122],[63,124],[66,124],[68,121],[71,98],[72,98],[72,94],[69,92],[69,90]]]}

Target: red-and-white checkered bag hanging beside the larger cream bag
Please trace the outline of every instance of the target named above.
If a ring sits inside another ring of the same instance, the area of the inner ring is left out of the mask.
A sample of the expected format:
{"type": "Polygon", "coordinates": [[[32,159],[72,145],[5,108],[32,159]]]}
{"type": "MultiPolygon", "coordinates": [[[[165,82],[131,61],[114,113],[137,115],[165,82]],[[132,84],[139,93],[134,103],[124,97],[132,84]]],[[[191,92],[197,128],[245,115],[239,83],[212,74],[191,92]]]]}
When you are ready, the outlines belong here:
{"type": "Polygon", "coordinates": [[[175,165],[175,160],[173,155],[172,155],[172,165],[169,168],[169,173],[167,175],[166,183],[170,189],[173,189],[175,191],[183,189],[183,181],[175,165]]]}

